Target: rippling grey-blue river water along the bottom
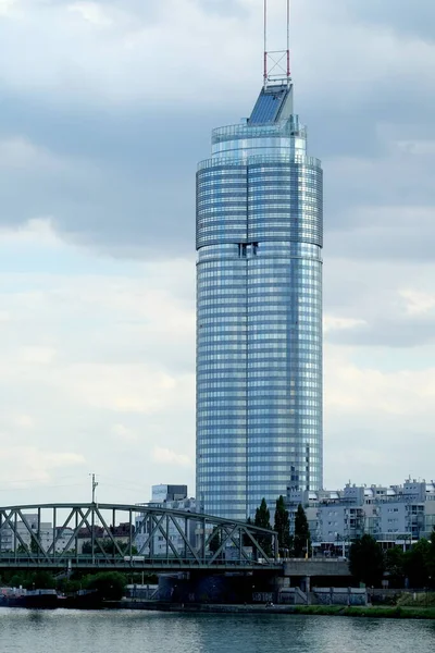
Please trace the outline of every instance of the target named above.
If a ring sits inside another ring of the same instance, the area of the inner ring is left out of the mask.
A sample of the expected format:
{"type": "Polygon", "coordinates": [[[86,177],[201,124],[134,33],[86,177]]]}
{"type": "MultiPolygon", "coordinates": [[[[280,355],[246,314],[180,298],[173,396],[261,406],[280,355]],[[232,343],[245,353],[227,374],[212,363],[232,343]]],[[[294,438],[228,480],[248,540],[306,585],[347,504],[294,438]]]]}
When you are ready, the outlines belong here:
{"type": "Polygon", "coordinates": [[[435,621],[0,608],[1,653],[434,653],[435,621]]]}

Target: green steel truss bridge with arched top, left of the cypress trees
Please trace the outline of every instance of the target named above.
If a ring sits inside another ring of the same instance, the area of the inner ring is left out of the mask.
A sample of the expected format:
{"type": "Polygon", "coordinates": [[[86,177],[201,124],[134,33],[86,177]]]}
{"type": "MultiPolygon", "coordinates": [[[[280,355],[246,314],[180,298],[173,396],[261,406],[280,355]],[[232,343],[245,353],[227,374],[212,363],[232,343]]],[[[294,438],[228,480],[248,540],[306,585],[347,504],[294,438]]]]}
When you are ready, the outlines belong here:
{"type": "Polygon", "coordinates": [[[251,571],[279,567],[276,532],[211,515],[99,503],[0,507],[0,568],[251,571]]]}

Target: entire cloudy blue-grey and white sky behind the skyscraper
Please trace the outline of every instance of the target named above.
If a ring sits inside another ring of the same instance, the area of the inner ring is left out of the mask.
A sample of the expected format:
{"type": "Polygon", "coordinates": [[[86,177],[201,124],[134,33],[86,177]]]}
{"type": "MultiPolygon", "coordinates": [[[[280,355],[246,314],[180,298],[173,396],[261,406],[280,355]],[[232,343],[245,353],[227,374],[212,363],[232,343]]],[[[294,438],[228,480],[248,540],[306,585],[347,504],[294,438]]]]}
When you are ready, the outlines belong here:
{"type": "MultiPolygon", "coordinates": [[[[281,47],[284,0],[271,0],[281,47]]],[[[0,503],[195,492],[195,171],[262,0],[0,0],[0,503]]],[[[325,171],[325,485],[435,470],[435,2],[293,0],[325,171]]]]}

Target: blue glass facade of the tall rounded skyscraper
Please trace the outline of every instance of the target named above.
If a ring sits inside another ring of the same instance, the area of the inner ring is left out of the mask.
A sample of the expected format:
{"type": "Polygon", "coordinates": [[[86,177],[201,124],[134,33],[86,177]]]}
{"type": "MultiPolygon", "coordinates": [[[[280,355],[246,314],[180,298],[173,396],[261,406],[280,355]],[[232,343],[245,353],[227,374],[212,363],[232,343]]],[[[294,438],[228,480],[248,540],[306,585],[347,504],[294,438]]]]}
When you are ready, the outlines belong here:
{"type": "Polygon", "coordinates": [[[233,519],[322,486],[322,169],[291,95],[197,173],[197,502],[233,519]]]}

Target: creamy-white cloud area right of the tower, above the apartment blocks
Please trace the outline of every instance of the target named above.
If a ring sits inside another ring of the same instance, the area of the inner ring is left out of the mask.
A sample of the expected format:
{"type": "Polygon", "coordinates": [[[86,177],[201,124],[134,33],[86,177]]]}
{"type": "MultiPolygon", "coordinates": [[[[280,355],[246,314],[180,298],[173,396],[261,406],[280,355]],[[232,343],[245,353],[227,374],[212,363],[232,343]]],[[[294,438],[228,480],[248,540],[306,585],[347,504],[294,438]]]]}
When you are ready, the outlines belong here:
{"type": "Polygon", "coordinates": [[[432,478],[435,368],[415,367],[434,353],[398,356],[380,347],[371,366],[364,347],[325,347],[325,486],[432,478]]]}

